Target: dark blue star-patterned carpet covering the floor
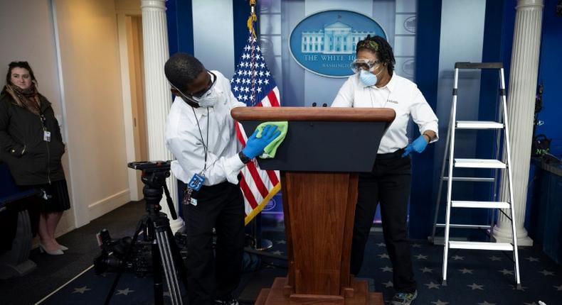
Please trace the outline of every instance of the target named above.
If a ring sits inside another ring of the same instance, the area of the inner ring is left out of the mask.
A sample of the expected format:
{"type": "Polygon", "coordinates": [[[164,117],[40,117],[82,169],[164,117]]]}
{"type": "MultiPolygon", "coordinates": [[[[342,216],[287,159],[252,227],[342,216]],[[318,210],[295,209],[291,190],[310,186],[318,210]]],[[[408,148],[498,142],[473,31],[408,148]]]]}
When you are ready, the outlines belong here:
{"type": "MultiPolygon", "coordinates": [[[[286,255],[285,238],[279,232],[264,232],[273,241],[269,253],[286,255]]],[[[447,287],[442,287],[442,246],[425,241],[411,243],[415,278],[418,281],[418,305],[547,305],[562,304],[562,266],[556,265],[539,250],[519,251],[522,289],[514,287],[513,263],[509,253],[483,250],[452,250],[447,287]]],[[[366,248],[359,277],[370,280],[371,289],[383,292],[386,300],[393,295],[392,266],[381,233],[373,233],[366,248]]],[[[270,287],[273,279],[286,275],[286,262],[263,257],[260,270],[245,273],[236,295],[243,304],[251,304],[260,289],[270,287]]],[[[96,276],[85,272],[42,304],[102,304],[115,275],[96,276]]],[[[152,278],[124,274],[112,304],[153,304],[152,278]]],[[[169,299],[165,297],[165,301],[169,299]]]]}

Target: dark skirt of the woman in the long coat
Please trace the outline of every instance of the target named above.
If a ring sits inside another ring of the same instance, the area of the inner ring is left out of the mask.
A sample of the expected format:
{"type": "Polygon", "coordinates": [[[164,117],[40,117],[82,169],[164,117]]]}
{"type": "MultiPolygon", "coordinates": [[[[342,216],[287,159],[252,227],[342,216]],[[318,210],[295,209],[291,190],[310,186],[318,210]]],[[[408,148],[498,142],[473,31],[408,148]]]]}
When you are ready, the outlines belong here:
{"type": "Polygon", "coordinates": [[[39,189],[44,199],[41,204],[41,211],[44,213],[70,209],[66,179],[51,182],[51,184],[21,185],[18,188],[22,192],[28,189],[39,189]]]}

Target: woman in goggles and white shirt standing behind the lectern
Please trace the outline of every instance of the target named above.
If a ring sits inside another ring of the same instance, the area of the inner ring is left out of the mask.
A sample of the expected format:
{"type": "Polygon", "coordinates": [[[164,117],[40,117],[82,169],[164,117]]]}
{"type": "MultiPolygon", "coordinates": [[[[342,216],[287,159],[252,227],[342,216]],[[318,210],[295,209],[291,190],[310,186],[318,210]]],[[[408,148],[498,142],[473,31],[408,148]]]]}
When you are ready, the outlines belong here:
{"type": "Polygon", "coordinates": [[[369,35],[357,43],[356,50],[352,64],[356,73],[339,89],[332,107],[391,108],[396,111],[396,118],[381,139],[372,172],[359,174],[351,273],[357,275],[361,270],[376,205],[380,202],[396,291],[391,304],[408,305],[418,294],[407,239],[410,154],[422,153],[428,143],[438,139],[438,118],[418,87],[394,73],[394,55],[384,38],[369,35]],[[408,144],[406,128],[410,116],[421,135],[408,144]]]}

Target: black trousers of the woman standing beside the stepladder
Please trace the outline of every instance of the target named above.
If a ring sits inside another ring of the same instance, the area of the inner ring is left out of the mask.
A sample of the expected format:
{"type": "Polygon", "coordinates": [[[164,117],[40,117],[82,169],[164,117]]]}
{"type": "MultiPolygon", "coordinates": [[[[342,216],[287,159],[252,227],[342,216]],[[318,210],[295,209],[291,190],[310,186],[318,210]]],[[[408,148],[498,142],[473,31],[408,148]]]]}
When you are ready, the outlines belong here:
{"type": "Polygon", "coordinates": [[[393,266],[394,289],[396,292],[413,292],[416,282],[406,221],[412,172],[410,157],[401,157],[402,153],[403,150],[398,150],[396,153],[379,154],[373,171],[359,174],[351,242],[351,274],[357,275],[361,270],[376,205],[380,202],[384,241],[393,266]]]}

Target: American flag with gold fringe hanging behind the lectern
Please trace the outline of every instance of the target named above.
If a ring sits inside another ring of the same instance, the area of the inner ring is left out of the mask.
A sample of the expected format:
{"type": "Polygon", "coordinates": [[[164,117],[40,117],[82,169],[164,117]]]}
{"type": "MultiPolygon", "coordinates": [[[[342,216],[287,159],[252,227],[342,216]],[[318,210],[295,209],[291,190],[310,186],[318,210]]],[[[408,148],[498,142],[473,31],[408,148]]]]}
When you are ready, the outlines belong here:
{"type": "MultiPolygon", "coordinates": [[[[257,39],[249,32],[248,43],[236,65],[236,71],[230,81],[230,88],[238,101],[248,106],[280,106],[279,89],[271,75],[257,39]]],[[[236,123],[236,134],[245,145],[246,134],[240,123],[236,123]]],[[[249,162],[240,172],[240,189],[244,194],[245,223],[248,224],[262,211],[264,206],[281,189],[279,172],[260,170],[255,162],[249,162]]]]}

